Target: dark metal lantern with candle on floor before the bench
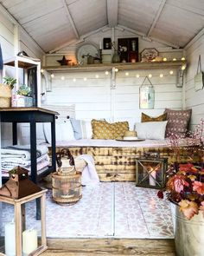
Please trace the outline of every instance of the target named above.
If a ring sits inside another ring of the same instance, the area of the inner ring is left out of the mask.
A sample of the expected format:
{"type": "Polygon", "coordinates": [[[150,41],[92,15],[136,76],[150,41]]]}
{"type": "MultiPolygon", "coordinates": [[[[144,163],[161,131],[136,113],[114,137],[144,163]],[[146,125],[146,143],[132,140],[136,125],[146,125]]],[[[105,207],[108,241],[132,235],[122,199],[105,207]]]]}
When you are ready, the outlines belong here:
{"type": "Polygon", "coordinates": [[[152,157],[145,155],[136,158],[136,186],[163,188],[166,183],[168,159],[159,155],[152,157]]]}

